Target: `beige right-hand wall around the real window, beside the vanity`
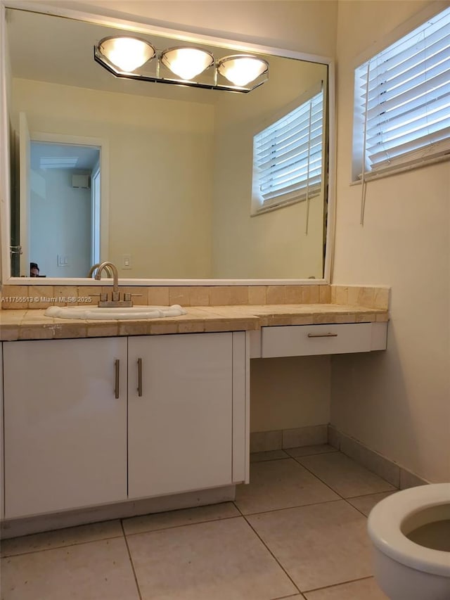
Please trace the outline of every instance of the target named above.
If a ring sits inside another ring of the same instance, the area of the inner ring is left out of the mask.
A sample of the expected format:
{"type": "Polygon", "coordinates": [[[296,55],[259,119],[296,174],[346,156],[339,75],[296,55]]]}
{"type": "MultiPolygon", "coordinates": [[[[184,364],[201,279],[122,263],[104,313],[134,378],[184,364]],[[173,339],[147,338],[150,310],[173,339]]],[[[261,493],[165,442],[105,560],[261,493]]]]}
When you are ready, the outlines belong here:
{"type": "Polygon", "coordinates": [[[355,59],[424,7],[442,3],[339,3],[333,283],[392,286],[392,307],[387,352],[333,357],[331,421],[438,482],[450,478],[449,162],[369,182],[364,226],[361,186],[349,186],[355,59]]]}

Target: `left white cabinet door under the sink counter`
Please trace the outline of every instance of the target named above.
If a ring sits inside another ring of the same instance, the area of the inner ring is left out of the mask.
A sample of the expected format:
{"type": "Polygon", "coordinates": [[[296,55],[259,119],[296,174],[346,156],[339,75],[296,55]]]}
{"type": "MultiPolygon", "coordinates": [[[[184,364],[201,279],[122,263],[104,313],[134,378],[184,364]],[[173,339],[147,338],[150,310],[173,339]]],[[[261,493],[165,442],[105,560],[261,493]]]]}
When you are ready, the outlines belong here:
{"type": "Polygon", "coordinates": [[[6,518],[127,498],[126,360],[125,338],[4,343],[6,518]]]}

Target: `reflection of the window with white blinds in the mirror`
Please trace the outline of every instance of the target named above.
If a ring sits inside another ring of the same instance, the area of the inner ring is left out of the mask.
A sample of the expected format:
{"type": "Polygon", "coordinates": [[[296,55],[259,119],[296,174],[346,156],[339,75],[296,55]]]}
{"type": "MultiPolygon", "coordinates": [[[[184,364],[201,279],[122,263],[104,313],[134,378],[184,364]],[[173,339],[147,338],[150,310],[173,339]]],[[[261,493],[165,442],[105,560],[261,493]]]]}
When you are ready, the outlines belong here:
{"type": "Polygon", "coordinates": [[[309,97],[255,135],[253,212],[263,212],[321,193],[323,121],[321,84],[319,94],[309,97]]]}

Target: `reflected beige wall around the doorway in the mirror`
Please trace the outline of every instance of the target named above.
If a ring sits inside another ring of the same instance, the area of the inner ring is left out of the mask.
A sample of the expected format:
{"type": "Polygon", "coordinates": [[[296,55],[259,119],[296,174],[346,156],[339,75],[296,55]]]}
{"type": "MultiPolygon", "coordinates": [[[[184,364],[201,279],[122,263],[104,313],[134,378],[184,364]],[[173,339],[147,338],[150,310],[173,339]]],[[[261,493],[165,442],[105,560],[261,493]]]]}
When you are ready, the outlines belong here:
{"type": "Polygon", "coordinates": [[[212,106],[15,79],[13,109],[30,131],[108,142],[108,260],[133,263],[120,276],[211,276],[212,106]]]}

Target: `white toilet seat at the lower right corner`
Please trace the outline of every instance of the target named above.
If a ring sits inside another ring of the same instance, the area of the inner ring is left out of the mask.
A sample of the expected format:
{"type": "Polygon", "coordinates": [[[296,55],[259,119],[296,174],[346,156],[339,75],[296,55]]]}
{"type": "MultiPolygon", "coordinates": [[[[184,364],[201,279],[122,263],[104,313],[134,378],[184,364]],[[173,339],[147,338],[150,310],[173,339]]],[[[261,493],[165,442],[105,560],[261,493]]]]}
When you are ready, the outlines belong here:
{"type": "Polygon", "coordinates": [[[412,513],[450,503],[450,483],[421,485],[401,490],[378,502],[368,517],[368,534],[375,547],[413,569],[450,577],[450,552],[411,542],[401,523],[412,513]]]}

